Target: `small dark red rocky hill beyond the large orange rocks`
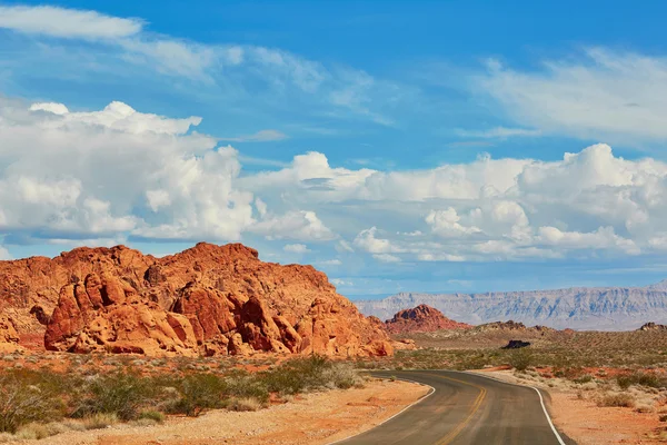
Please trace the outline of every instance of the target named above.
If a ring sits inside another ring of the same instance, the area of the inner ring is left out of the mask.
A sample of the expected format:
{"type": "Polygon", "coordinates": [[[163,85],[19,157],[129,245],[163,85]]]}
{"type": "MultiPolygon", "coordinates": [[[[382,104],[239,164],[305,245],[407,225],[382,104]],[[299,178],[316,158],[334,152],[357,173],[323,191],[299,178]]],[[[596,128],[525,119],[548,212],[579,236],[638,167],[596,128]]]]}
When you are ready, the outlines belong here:
{"type": "Polygon", "coordinates": [[[442,329],[467,329],[472,326],[451,320],[438,309],[428,305],[419,305],[411,309],[396,313],[394,318],[385,322],[387,330],[392,334],[430,333],[442,329]]]}

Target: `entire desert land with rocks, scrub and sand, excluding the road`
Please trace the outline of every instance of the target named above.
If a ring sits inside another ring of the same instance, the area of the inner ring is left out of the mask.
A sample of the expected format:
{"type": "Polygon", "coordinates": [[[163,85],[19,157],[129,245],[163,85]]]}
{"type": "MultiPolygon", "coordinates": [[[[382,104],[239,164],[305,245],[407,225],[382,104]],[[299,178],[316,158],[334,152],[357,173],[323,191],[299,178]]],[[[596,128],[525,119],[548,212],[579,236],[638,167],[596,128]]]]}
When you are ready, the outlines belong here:
{"type": "Polygon", "coordinates": [[[424,386],[368,374],[406,369],[542,388],[576,443],[667,437],[667,326],[655,323],[628,332],[471,325],[424,304],[384,322],[311,266],[263,263],[239,244],[162,258],[117,246],[1,261],[0,301],[8,443],[207,443],[182,439],[182,429],[245,422],[233,415],[251,416],[255,429],[206,437],[329,443],[424,396],[424,386]],[[307,412],[317,414],[287,428],[286,413],[307,412]]]}

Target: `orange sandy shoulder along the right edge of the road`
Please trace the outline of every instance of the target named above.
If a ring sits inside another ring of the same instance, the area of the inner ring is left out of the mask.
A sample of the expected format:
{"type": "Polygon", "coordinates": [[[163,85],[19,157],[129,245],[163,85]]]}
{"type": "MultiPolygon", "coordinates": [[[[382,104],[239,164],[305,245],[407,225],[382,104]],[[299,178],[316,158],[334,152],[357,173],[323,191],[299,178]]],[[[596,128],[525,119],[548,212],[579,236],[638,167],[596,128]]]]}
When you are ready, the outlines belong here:
{"type": "MultiPolygon", "coordinates": [[[[478,373],[511,383],[526,384],[516,378],[510,370],[485,369],[478,373]]],[[[665,443],[648,437],[648,434],[656,428],[665,426],[655,413],[637,413],[631,408],[598,407],[591,400],[580,400],[573,390],[555,389],[536,382],[530,382],[530,385],[549,393],[551,419],[558,429],[579,445],[665,443]]]]}

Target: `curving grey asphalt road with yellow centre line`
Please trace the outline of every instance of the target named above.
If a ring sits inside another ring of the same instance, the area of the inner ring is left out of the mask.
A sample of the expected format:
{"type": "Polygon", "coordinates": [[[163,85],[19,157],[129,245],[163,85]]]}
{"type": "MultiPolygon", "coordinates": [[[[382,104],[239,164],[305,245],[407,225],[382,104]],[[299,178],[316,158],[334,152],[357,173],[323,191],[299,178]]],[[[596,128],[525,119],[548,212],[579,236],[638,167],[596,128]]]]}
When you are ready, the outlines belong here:
{"type": "Polygon", "coordinates": [[[340,445],[575,444],[563,433],[556,435],[539,394],[532,388],[449,370],[372,375],[424,383],[435,392],[388,422],[339,442],[340,445]]]}

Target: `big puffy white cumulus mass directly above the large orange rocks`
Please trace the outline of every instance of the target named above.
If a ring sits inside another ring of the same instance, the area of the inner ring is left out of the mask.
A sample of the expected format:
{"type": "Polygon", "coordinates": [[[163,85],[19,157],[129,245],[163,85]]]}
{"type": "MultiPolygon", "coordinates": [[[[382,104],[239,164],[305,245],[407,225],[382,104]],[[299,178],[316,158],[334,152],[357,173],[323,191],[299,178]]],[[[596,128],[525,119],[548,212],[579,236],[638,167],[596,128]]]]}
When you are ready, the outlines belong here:
{"type": "Polygon", "coordinates": [[[0,98],[0,230],[53,240],[335,236],[312,211],[267,216],[261,200],[236,185],[237,150],[191,131],[200,121],[122,102],[70,112],[0,98]]]}

